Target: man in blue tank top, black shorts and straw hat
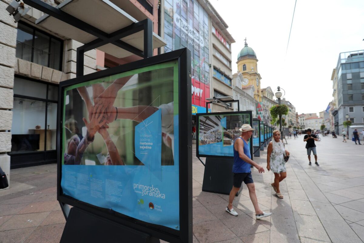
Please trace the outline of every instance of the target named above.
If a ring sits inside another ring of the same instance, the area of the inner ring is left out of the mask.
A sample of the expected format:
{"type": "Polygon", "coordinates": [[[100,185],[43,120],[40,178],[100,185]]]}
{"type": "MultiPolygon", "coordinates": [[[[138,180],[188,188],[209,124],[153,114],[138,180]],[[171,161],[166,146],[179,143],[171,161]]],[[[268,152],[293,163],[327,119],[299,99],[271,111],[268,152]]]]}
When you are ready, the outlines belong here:
{"type": "Polygon", "coordinates": [[[250,155],[250,148],[248,145],[249,138],[252,137],[254,129],[249,124],[244,124],[239,129],[241,131],[241,136],[238,137],[234,141],[234,165],[233,165],[233,189],[230,191],[229,195],[229,204],[226,207],[226,212],[231,215],[238,216],[238,213],[233,208],[233,200],[235,198],[236,193],[239,191],[242,182],[246,184],[249,190],[250,200],[254,205],[255,215],[257,219],[261,219],[263,217],[268,217],[272,213],[266,213],[260,210],[258,205],[257,195],[255,193],[255,186],[252,177],[252,173],[250,171],[250,165],[253,165],[259,173],[264,172],[264,168],[258,165],[256,162],[252,160],[252,156],[250,155]]]}

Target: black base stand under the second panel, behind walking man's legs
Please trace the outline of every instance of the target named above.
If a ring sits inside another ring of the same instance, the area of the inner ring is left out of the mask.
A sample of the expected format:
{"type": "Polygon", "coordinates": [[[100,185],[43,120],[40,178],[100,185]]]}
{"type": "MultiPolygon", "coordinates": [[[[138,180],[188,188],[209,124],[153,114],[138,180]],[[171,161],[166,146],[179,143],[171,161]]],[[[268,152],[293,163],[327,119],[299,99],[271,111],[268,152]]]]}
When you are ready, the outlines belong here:
{"type": "MultiPolygon", "coordinates": [[[[229,195],[233,188],[233,164],[233,158],[206,158],[202,191],[229,195]]],[[[241,190],[242,187],[236,196],[241,190]]]]}

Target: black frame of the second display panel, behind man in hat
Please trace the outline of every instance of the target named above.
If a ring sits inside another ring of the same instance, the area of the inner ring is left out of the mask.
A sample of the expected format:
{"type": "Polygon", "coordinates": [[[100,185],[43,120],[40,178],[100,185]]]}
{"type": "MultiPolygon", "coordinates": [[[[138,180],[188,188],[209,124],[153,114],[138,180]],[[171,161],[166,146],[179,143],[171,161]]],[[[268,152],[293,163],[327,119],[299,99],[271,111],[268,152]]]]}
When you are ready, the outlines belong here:
{"type": "MultiPolygon", "coordinates": [[[[253,111],[230,111],[230,112],[214,112],[214,113],[197,113],[196,114],[196,122],[197,122],[197,126],[196,126],[196,157],[197,158],[200,158],[200,157],[206,157],[206,158],[233,158],[233,156],[206,155],[206,154],[199,154],[198,153],[199,117],[204,116],[204,115],[238,115],[238,114],[250,114],[249,122],[250,122],[251,125],[253,125],[253,111]]],[[[250,154],[252,154],[252,158],[253,158],[253,137],[250,137],[250,154]]]]}

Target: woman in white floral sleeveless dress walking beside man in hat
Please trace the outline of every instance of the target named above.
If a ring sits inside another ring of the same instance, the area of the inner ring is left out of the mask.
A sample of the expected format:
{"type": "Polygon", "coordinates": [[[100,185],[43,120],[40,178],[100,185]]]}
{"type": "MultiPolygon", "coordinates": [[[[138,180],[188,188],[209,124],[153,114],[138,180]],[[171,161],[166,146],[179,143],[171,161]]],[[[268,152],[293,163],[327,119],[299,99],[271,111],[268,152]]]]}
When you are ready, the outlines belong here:
{"type": "Polygon", "coordinates": [[[268,152],[267,152],[267,169],[272,170],[274,173],[274,183],[272,187],[276,192],[277,197],[283,198],[281,191],[279,189],[279,183],[286,178],[286,162],[284,161],[284,156],[289,156],[289,152],[284,149],[283,142],[281,140],[281,133],[279,130],[273,131],[273,139],[269,142],[268,152]]]}

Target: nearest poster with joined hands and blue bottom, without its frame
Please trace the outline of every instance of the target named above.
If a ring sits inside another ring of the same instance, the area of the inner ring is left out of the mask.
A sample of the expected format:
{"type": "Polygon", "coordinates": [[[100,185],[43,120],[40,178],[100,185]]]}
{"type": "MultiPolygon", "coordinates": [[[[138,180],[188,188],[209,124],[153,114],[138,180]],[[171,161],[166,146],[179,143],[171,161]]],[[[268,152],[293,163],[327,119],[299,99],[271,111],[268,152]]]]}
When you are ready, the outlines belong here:
{"type": "Polygon", "coordinates": [[[64,195],[179,230],[178,62],[64,89],[64,195]]]}

